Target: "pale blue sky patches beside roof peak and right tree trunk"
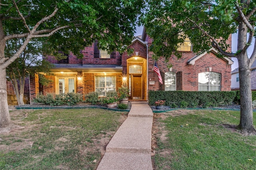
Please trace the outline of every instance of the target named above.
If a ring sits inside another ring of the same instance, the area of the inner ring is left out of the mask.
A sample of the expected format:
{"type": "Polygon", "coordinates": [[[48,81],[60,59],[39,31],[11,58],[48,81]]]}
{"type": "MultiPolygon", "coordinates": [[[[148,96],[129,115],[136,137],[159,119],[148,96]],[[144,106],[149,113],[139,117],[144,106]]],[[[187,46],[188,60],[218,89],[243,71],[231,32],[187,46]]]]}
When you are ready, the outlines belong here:
{"type": "MultiPolygon", "coordinates": [[[[142,31],[143,31],[143,26],[137,26],[136,27],[136,33],[134,34],[134,36],[138,36],[138,35],[142,35],[142,31]]],[[[252,51],[253,51],[253,46],[254,46],[254,42],[255,39],[253,39],[252,45],[248,48],[248,57],[250,57],[252,55],[252,51]]],[[[232,52],[235,53],[236,49],[237,49],[237,33],[232,34],[232,52]]],[[[232,64],[231,66],[231,70],[234,70],[236,68],[238,68],[238,61],[236,58],[232,57],[232,61],[234,61],[234,64],[232,64]]]]}

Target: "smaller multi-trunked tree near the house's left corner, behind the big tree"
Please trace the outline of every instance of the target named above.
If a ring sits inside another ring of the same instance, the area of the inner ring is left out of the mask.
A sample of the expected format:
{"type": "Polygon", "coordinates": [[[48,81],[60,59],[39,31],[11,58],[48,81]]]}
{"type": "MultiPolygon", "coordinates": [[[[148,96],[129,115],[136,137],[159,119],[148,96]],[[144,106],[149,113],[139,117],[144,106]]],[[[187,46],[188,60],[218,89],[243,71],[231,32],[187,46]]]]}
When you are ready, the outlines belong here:
{"type": "MultiPolygon", "coordinates": [[[[6,42],[5,56],[12,57],[17,53],[24,39],[11,39],[6,42]]],[[[24,105],[24,87],[26,78],[30,75],[38,74],[40,76],[40,83],[50,82],[44,77],[44,74],[52,74],[50,68],[52,64],[42,60],[43,39],[38,41],[30,41],[26,48],[22,51],[18,59],[11,63],[6,68],[6,77],[12,83],[14,91],[18,100],[18,105],[24,105]]]]}

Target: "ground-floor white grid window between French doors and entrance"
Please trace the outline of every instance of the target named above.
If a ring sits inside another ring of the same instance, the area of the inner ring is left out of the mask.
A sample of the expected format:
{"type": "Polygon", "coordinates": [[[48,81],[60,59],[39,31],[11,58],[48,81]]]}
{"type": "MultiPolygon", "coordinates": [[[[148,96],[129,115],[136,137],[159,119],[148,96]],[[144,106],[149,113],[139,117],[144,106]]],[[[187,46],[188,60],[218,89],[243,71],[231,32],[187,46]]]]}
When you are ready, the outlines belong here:
{"type": "Polygon", "coordinates": [[[116,91],[116,76],[95,76],[95,91],[106,96],[108,91],[116,91]]]}

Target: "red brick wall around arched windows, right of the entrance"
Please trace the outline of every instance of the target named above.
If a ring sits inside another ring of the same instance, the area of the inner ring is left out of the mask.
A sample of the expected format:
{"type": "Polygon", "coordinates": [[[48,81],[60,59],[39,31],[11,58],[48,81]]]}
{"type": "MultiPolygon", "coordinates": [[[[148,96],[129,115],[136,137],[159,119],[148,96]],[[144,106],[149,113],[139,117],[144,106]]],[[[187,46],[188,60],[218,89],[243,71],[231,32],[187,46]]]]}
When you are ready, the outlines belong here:
{"type": "MultiPolygon", "coordinates": [[[[154,64],[152,55],[153,53],[150,51],[148,60],[148,81],[154,81],[155,84],[149,84],[148,90],[159,90],[160,83],[158,81],[158,75],[152,70],[154,64]]],[[[160,72],[168,72],[168,64],[172,64],[174,72],[182,72],[182,90],[184,91],[198,91],[198,73],[210,71],[210,69],[212,72],[218,72],[221,74],[221,91],[230,91],[231,65],[227,65],[225,61],[217,58],[213,53],[204,55],[198,59],[194,65],[188,65],[187,61],[195,55],[196,54],[193,52],[182,52],[181,59],[177,59],[173,55],[168,63],[165,63],[163,58],[160,58],[156,62],[160,72]]]]}

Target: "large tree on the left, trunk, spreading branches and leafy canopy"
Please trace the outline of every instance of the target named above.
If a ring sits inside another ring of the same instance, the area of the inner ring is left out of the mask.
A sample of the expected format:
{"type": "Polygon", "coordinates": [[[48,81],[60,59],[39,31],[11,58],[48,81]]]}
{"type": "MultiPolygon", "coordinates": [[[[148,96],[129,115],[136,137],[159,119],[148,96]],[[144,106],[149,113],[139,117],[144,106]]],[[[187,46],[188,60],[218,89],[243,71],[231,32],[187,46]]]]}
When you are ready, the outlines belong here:
{"type": "Polygon", "coordinates": [[[52,51],[77,56],[94,39],[102,49],[123,51],[142,7],[142,0],[0,0],[0,131],[10,126],[6,67],[32,39],[48,37],[52,51]],[[20,38],[24,41],[18,51],[6,57],[6,41],[20,38]]]}

